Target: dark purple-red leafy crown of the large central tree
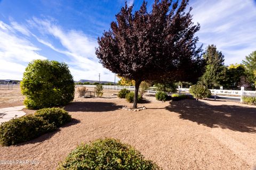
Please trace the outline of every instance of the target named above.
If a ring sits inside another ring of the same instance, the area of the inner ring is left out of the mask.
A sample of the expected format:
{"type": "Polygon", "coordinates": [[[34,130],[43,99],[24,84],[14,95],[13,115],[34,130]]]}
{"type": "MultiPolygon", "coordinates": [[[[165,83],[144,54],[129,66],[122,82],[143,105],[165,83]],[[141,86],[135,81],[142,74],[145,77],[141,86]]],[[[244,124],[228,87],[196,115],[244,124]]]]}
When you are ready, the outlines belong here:
{"type": "Polygon", "coordinates": [[[98,38],[100,63],[121,77],[135,80],[137,86],[144,80],[188,76],[201,62],[201,48],[196,47],[198,37],[194,37],[200,27],[192,22],[187,5],[188,0],[180,4],[156,0],[151,12],[143,2],[134,13],[133,6],[125,5],[111,29],[98,38]]]}

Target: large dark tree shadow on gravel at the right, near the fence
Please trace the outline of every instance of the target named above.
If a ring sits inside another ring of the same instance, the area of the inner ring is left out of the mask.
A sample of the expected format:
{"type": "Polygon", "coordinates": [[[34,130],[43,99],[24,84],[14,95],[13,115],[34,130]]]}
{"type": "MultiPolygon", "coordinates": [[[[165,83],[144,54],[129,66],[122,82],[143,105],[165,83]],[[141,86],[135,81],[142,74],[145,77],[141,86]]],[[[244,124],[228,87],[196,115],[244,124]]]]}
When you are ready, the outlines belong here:
{"type": "Polygon", "coordinates": [[[193,121],[210,128],[256,133],[256,108],[213,106],[202,101],[187,99],[171,102],[166,109],[180,114],[183,120],[193,121]]]}

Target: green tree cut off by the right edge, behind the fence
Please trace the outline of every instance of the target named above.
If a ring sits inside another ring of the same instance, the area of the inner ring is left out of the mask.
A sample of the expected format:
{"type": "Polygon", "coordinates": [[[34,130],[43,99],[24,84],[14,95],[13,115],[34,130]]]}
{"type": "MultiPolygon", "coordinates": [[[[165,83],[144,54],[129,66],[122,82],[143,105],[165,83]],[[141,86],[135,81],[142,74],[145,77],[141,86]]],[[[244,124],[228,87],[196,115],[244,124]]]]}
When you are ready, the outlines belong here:
{"type": "Polygon", "coordinates": [[[242,63],[245,65],[249,81],[256,86],[256,51],[246,56],[242,63]]]}

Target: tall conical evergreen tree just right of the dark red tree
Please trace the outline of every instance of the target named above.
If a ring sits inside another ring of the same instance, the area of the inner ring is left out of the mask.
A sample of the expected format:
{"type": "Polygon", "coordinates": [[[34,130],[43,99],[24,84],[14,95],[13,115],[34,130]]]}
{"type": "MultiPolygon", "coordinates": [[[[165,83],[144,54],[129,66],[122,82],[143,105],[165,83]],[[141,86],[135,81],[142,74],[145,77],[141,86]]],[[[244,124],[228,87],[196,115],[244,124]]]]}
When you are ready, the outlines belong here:
{"type": "Polygon", "coordinates": [[[224,55],[214,45],[209,45],[203,55],[206,61],[205,72],[199,79],[199,83],[207,88],[220,85],[225,78],[224,55]]]}

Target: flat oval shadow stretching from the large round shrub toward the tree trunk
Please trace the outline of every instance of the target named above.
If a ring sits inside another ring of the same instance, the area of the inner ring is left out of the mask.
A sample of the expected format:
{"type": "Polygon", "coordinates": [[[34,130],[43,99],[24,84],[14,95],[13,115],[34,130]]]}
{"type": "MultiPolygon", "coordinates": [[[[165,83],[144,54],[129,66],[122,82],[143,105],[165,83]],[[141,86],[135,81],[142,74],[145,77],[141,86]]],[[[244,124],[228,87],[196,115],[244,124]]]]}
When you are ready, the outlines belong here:
{"type": "Polygon", "coordinates": [[[68,112],[108,112],[122,108],[121,105],[109,102],[75,101],[65,106],[68,112]]]}

